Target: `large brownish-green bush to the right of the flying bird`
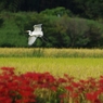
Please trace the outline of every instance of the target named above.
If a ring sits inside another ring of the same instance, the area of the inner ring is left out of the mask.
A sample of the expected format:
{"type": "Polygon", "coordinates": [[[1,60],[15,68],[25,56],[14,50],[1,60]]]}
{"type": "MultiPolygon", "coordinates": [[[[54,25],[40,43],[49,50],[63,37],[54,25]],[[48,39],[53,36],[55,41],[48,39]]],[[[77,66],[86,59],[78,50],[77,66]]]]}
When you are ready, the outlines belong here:
{"type": "Polygon", "coordinates": [[[103,39],[103,25],[94,21],[63,16],[56,26],[60,34],[68,38],[72,48],[98,47],[103,39]]]}

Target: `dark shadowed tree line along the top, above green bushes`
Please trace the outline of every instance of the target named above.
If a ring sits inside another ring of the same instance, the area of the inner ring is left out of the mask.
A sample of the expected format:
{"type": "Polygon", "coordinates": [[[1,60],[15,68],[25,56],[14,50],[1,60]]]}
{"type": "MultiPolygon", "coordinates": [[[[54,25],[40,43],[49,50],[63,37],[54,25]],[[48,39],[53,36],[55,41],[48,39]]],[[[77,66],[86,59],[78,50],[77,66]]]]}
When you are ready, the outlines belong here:
{"type": "Polygon", "coordinates": [[[0,11],[36,11],[64,7],[74,15],[98,20],[103,17],[103,0],[0,0],[0,11]]]}

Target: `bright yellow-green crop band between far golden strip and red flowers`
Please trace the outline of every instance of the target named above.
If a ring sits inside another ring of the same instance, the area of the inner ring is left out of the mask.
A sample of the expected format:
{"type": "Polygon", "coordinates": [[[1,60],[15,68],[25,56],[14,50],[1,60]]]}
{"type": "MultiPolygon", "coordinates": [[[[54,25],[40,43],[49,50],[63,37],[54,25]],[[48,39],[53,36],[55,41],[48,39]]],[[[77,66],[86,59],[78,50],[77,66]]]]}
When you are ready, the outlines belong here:
{"type": "Polygon", "coordinates": [[[55,76],[68,74],[77,79],[103,75],[103,59],[93,57],[0,57],[0,67],[13,66],[16,72],[50,72],[55,76]]]}

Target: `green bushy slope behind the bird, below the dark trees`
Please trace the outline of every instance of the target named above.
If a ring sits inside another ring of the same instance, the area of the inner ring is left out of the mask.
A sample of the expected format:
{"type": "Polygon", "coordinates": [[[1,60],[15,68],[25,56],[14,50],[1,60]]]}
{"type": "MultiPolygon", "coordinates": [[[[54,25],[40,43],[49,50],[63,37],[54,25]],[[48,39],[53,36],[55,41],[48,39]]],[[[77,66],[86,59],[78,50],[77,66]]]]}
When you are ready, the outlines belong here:
{"type": "Polygon", "coordinates": [[[76,17],[65,8],[37,12],[1,12],[0,47],[28,47],[28,34],[35,24],[42,24],[43,40],[31,47],[42,48],[103,48],[103,20],[76,17]]]}

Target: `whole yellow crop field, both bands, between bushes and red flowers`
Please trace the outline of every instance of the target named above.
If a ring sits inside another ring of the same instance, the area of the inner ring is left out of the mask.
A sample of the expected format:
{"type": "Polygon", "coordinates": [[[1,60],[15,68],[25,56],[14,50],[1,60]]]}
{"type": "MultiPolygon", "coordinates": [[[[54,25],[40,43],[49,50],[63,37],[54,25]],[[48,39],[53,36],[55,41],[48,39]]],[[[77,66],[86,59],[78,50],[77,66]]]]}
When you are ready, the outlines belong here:
{"type": "Polygon", "coordinates": [[[0,67],[15,67],[16,72],[65,73],[77,79],[103,75],[101,49],[33,49],[1,48],[0,67]]]}

